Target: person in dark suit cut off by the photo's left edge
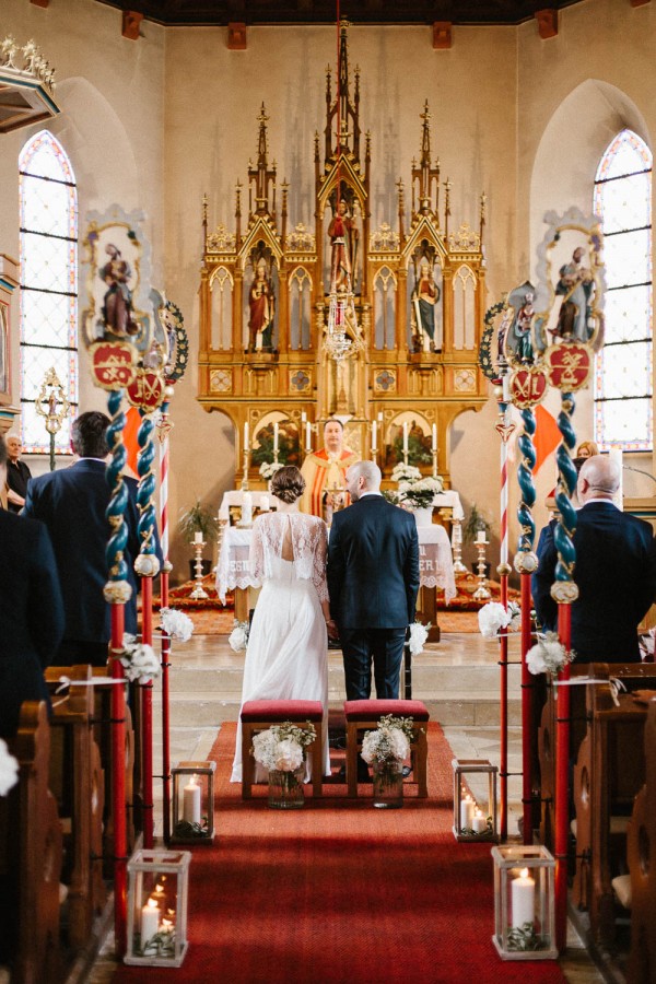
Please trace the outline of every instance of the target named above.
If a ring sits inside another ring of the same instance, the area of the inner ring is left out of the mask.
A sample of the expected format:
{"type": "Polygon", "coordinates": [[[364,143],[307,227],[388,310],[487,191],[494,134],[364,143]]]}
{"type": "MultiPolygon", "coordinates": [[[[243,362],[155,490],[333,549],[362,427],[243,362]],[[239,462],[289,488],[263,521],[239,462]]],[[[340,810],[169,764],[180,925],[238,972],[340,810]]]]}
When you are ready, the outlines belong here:
{"type": "MultiPolygon", "coordinates": [[[[0,484],[7,445],[0,437],[0,484]]],[[[47,701],[44,668],[63,632],[52,546],[43,523],[0,509],[0,738],[17,728],[23,701],[47,701]]]]}

